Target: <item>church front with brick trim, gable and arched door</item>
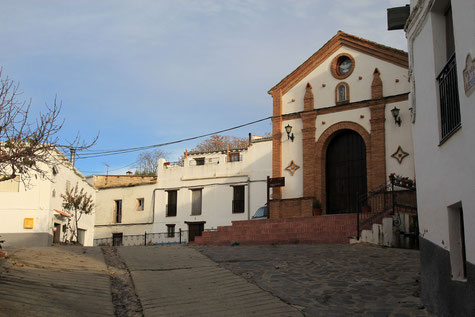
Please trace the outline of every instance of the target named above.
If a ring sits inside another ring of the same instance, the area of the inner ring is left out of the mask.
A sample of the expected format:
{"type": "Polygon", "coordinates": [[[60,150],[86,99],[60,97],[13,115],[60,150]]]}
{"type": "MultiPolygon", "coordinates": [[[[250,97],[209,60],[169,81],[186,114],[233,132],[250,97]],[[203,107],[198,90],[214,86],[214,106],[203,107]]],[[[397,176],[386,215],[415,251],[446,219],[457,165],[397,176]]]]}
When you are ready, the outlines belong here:
{"type": "Polygon", "coordinates": [[[357,211],[390,174],[414,178],[408,56],[339,31],[269,90],[270,218],[357,211]]]}

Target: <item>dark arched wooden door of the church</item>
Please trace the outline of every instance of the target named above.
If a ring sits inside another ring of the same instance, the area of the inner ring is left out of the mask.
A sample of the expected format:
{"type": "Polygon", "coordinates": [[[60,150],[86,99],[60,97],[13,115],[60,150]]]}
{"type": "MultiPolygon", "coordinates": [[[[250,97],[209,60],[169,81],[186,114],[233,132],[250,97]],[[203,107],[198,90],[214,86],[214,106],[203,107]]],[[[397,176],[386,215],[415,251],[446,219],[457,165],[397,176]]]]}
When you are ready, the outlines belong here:
{"type": "Polygon", "coordinates": [[[358,196],[366,193],[366,145],[353,130],[341,130],[326,151],[327,214],[358,211],[358,196]]]}

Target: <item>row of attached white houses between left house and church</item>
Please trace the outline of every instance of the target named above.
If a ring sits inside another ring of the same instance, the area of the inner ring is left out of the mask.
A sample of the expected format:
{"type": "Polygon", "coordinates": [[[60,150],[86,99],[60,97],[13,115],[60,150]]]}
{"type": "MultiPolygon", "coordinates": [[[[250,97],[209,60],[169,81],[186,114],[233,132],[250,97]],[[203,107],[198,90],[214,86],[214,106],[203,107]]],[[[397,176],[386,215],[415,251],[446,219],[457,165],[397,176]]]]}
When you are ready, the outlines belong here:
{"type": "Polygon", "coordinates": [[[247,220],[266,204],[270,172],[271,138],[253,137],[245,148],[186,153],[180,163],[160,159],[158,179],[89,176],[98,189],[94,243],[186,242],[247,220]]]}

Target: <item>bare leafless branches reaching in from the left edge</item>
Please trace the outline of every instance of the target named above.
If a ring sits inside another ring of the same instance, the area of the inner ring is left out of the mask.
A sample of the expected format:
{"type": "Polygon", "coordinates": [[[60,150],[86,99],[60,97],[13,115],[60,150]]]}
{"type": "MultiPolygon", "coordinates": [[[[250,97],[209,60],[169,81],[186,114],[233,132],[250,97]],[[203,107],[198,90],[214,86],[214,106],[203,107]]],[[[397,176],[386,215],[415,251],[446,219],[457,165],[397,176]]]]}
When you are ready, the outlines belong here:
{"type": "MultiPolygon", "coordinates": [[[[45,176],[43,164],[51,166],[61,162],[55,155],[55,148],[60,146],[57,135],[63,126],[59,118],[61,102],[55,97],[52,105],[46,105],[44,113],[31,120],[31,100],[22,101],[18,89],[17,83],[2,77],[0,69],[0,182],[20,174],[23,182],[33,173],[45,176]]],[[[62,146],[85,149],[96,140],[97,137],[85,144],[77,136],[62,146]]]]}

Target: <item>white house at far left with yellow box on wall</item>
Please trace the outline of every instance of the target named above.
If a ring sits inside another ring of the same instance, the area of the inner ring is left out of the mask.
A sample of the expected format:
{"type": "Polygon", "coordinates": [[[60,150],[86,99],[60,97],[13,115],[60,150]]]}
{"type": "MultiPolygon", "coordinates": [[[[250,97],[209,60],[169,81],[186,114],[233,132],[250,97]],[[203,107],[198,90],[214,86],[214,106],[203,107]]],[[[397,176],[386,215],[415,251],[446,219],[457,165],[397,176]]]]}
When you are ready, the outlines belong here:
{"type": "MultiPolygon", "coordinates": [[[[0,236],[4,247],[49,246],[71,239],[63,210],[62,194],[78,184],[95,199],[95,189],[61,152],[54,154],[57,164],[44,166],[44,175],[32,175],[27,185],[21,176],[0,182],[0,236]]],[[[78,242],[91,246],[94,215],[83,215],[78,225],[78,242]]]]}

